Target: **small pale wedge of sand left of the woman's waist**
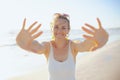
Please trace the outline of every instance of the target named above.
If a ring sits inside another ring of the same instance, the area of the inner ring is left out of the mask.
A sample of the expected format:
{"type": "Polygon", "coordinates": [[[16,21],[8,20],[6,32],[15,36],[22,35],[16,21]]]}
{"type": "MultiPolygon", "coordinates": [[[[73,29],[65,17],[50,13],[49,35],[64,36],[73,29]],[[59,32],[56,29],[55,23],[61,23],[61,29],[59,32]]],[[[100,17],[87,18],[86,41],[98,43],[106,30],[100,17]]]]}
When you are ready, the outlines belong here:
{"type": "Polygon", "coordinates": [[[7,80],[48,80],[48,70],[47,65],[42,67],[42,69],[38,68],[29,73],[25,73],[22,75],[18,75],[7,80]]]}

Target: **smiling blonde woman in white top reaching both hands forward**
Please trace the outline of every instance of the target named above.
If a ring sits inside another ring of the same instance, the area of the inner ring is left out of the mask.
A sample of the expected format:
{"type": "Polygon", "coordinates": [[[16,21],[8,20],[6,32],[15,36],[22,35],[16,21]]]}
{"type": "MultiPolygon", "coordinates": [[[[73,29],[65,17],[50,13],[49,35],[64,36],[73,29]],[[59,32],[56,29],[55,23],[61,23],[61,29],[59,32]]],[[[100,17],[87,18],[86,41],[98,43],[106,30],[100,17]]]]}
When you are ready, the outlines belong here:
{"type": "Polygon", "coordinates": [[[90,24],[85,24],[88,28],[82,29],[90,34],[83,35],[83,42],[75,42],[68,39],[70,31],[69,16],[66,14],[54,14],[51,22],[51,30],[53,39],[48,42],[39,43],[35,39],[42,34],[37,32],[41,24],[32,29],[37,22],[34,22],[27,30],[25,30],[26,19],[23,22],[23,28],[19,32],[16,42],[27,50],[37,54],[44,54],[48,60],[48,68],[50,80],[75,80],[75,63],[78,52],[93,51],[105,45],[108,41],[108,34],[102,28],[100,20],[97,18],[99,29],[94,28],[90,24]],[[36,34],[35,34],[36,33],[36,34]]]}

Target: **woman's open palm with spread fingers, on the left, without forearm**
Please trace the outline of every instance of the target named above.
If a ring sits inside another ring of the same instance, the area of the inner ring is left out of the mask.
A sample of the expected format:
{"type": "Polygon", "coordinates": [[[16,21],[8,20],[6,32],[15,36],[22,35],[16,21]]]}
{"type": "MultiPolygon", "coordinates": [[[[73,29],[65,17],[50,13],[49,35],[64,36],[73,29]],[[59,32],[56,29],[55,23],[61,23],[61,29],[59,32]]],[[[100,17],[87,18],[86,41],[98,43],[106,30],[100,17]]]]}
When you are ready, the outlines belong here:
{"type": "Polygon", "coordinates": [[[28,29],[25,29],[25,24],[26,19],[24,19],[22,29],[16,37],[16,42],[21,48],[29,50],[34,39],[36,39],[42,34],[42,31],[36,33],[37,30],[40,28],[41,24],[39,24],[34,29],[32,29],[32,27],[37,24],[37,21],[30,25],[28,29]]]}

